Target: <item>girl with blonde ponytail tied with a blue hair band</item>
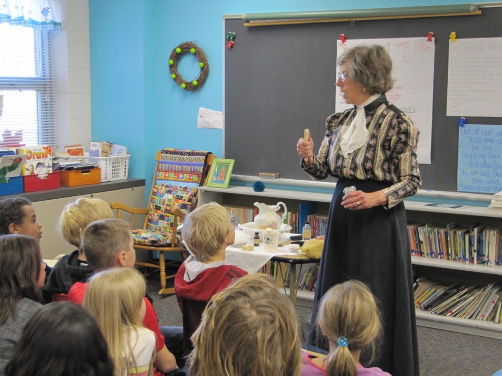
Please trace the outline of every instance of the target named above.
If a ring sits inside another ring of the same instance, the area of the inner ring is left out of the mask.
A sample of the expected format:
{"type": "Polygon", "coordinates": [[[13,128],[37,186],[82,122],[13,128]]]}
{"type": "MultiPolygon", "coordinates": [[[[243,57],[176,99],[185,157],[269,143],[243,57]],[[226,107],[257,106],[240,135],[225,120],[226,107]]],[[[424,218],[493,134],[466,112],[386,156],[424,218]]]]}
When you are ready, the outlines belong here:
{"type": "Polygon", "coordinates": [[[318,308],[317,324],[329,340],[329,354],[304,353],[301,376],[390,376],[378,367],[365,368],[359,362],[361,350],[371,349],[381,335],[379,309],[369,288],[359,281],[331,287],[318,308]]]}

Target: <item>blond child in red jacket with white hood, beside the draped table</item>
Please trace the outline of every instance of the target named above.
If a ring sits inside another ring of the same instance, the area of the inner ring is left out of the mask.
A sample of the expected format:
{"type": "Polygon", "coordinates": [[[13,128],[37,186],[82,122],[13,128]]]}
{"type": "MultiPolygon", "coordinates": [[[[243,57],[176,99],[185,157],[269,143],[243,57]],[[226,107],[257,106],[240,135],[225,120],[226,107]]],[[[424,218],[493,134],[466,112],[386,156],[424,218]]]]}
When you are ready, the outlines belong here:
{"type": "Polygon", "coordinates": [[[192,324],[183,328],[183,352],[188,355],[192,349],[190,336],[200,322],[205,304],[247,272],[225,261],[225,249],[235,241],[235,230],[221,205],[208,203],[192,211],[181,232],[190,256],[178,269],[174,288],[181,311],[184,305],[191,308],[192,324]]]}

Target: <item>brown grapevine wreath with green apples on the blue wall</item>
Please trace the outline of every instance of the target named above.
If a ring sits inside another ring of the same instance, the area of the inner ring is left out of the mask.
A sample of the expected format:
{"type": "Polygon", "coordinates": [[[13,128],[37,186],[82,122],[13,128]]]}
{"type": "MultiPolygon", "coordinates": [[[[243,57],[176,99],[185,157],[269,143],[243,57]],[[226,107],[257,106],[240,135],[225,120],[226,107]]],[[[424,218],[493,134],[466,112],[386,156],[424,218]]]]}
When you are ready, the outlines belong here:
{"type": "Polygon", "coordinates": [[[209,64],[207,64],[206,54],[193,42],[183,42],[176,47],[169,57],[169,71],[171,78],[176,81],[180,87],[185,90],[193,91],[198,89],[209,73],[209,64]],[[193,81],[185,81],[178,73],[178,59],[181,55],[190,53],[199,61],[200,73],[199,76],[193,81]]]}

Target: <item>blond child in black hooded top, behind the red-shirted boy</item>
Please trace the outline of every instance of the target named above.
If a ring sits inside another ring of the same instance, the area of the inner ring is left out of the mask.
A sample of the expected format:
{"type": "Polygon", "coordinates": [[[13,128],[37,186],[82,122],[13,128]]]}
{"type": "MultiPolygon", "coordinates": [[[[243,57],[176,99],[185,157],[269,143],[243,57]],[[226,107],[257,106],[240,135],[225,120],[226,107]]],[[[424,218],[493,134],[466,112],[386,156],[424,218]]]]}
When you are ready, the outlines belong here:
{"type": "Polygon", "coordinates": [[[82,233],[91,222],[112,217],[110,206],[101,199],[80,197],[64,207],[59,217],[59,230],[64,240],[77,249],[63,256],[49,274],[42,289],[46,302],[52,301],[52,294],[68,294],[75,282],[84,281],[92,274],[80,245],[82,233]]]}

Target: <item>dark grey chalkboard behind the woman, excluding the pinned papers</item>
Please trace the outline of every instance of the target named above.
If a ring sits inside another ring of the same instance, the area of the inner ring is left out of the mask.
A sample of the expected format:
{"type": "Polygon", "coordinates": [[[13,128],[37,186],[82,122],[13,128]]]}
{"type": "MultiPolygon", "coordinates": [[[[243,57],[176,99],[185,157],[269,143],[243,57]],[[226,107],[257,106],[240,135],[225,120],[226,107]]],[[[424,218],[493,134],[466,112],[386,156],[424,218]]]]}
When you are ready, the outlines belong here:
{"type": "MultiPolygon", "coordinates": [[[[457,38],[502,36],[502,8],[481,15],[244,27],[225,19],[224,157],[235,159],[234,174],[279,172],[309,180],[300,168],[296,143],[309,128],[317,149],[324,121],[335,109],[336,41],[435,36],[431,164],[420,164],[422,189],[457,191],[459,117],[446,116],[448,44],[457,38]]],[[[483,69],[479,67],[479,69],[483,69]]],[[[502,72],[500,72],[502,74],[502,72]]],[[[413,72],[410,72],[413,74],[413,72]]],[[[413,119],[413,117],[412,117],[413,119]]],[[[498,117],[468,117],[472,124],[502,124],[498,117]]],[[[331,179],[334,181],[335,179],[331,179]]]]}

